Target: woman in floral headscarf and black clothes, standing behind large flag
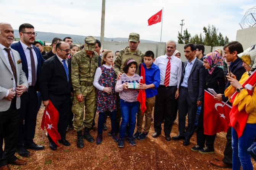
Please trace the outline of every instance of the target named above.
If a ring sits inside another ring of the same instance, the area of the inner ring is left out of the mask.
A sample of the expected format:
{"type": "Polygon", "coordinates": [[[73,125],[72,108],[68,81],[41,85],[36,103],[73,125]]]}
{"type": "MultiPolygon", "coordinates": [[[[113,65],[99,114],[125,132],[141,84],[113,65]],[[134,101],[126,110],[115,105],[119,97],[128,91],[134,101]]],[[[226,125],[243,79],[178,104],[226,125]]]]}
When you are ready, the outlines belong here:
{"type": "MultiPolygon", "coordinates": [[[[217,94],[223,94],[225,88],[225,78],[222,62],[222,50],[215,49],[203,57],[204,67],[206,69],[206,84],[204,89],[214,89],[217,94]]],[[[192,151],[199,151],[204,154],[214,154],[215,135],[204,134],[204,104],[202,103],[201,113],[198,119],[196,130],[197,145],[192,147],[192,151]]]]}

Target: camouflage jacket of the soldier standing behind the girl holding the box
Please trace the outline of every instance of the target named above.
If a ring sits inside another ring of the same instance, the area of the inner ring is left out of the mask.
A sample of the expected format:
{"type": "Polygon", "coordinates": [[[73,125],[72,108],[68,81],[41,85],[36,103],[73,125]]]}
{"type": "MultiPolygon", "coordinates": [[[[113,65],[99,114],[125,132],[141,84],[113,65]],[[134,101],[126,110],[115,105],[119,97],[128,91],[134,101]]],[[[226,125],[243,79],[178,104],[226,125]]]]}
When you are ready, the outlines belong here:
{"type": "Polygon", "coordinates": [[[135,54],[131,54],[128,50],[129,47],[126,47],[124,49],[121,49],[117,59],[115,60],[114,64],[114,70],[115,74],[118,75],[118,73],[124,73],[123,72],[123,64],[125,63],[126,59],[134,59],[137,62],[138,68],[135,73],[139,74],[139,65],[141,64],[141,61],[144,57],[144,53],[141,52],[139,49],[136,51],[135,54]]]}

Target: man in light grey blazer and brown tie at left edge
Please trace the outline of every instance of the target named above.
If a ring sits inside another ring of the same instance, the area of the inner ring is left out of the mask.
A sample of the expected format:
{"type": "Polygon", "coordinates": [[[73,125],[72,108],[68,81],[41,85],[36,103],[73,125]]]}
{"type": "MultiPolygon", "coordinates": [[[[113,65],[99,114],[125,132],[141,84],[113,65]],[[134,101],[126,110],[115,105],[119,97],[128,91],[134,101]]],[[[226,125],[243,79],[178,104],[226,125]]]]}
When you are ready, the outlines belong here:
{"type": "Polygon", "coordinates": [[[20,96],[28,90],[19,53],[10,48],[14,40],[10,24],[0,23],[0,169],[8,164],[24,165],[14,154],[18,144],[20,96]],[[3,151],[3,139],[5,148],[3,151]]]}

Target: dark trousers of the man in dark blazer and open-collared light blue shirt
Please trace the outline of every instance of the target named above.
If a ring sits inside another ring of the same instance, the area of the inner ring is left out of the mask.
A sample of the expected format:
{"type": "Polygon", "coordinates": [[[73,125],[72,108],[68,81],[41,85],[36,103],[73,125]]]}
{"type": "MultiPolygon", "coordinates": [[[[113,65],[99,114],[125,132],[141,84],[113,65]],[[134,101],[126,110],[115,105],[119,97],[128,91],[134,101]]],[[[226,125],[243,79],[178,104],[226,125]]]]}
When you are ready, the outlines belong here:
{"type": "Polygon", "coordinates": [[[180,89],[180,97],[178,100],[178,109],[179,109],[179,133],[181,136],[185,137],[187,140],[190,140],[194,134],[194,121],[196,119],[196,110],[197,104],[191,102],[188,95],[187,89],[180,89]],[[188,114],[188,126],[186,125],[186,115],[188,114]]]}

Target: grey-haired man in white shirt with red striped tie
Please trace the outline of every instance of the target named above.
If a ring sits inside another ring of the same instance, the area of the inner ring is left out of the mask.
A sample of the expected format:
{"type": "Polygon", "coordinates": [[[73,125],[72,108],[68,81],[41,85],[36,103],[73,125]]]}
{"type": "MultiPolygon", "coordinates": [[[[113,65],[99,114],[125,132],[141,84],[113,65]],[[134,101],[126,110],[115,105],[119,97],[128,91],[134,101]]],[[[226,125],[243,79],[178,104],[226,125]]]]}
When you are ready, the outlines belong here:
{"type": "Polygon", "coordinates": [[[175,99],[179,97],[179,84],[182,71],[182,62],[173,56],[176,42],[169,40],[166,43],[165,55],[157,57],[155,64],[160,69],[160,85],[157,89],[154,109],[154,129],[152,137],[161,134],[162,121],[164,120],[165,140],[170,141],[173,119],[175,117],[175,99]]]}

